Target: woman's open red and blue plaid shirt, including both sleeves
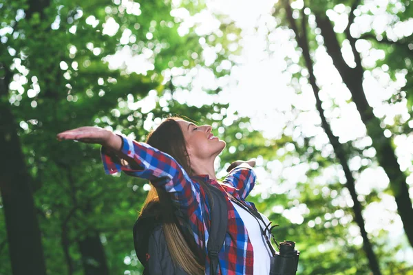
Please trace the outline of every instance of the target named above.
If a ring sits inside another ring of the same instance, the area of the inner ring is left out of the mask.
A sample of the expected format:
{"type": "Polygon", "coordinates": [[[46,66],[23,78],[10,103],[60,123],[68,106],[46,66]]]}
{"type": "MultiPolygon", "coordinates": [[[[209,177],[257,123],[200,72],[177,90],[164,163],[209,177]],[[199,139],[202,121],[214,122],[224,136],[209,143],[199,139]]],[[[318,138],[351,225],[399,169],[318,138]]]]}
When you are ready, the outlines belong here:
{"type": "MultiPolygon", "coordinates": [[[[174,203],[187,215],[195,242],[207,254],[207,241],[211,228],[209,203],[200,180],[218,187],[226,197],[228,207],[228,228],[224,245],[218,254],[219,274],[253,274],[253,246],[248,239],[244,223],[231,203],[226,192],[244,201],[255,184],[255,173],[247,166],[238,166],[231,170],[222,183],[210,179],[208,175],[189,177],[185,170],[170,155],[153,148],[149,144],[123,138],[122,153],[135,160],[136,164],[121,164],[119,157],[102,147],[102,160],[105,173],[114,174],[123,171],[127,175],[149,179],[156,188],[165,189],[174,203]],[[134,168],[132,168],[132,166],[134,168]]],[[[253,203],[245,201],[255,208],[253,203]]],[[[207,259],[209,262],[209,259],[207,259]]],[[[206,265],[205,274],[209,274],[206,265]]]]}

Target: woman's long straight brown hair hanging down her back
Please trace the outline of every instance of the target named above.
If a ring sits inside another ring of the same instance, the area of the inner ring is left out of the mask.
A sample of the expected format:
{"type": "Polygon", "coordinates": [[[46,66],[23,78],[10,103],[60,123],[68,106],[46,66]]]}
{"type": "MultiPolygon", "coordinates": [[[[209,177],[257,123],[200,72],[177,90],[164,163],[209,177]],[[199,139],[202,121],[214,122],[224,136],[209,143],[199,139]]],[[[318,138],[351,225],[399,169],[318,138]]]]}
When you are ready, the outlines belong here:
{"type": "MultiPolygon", "coordinates": [[[[184,135],[176,120],[180,118],[167,118],[162,122],[155,131],[149,133],[147,144],[157,148],[158,150],[171,155],[178,164],[180,164],[187,174],[192,175],[187,147],[184,140],[184,135]]],[[[206,183],[201,182],[201,186],[206,183]]],[[[203,188],[206,190],[207,188],[203,188]]],[[[184,238],[175,215],[176,206],[173,205],[171,197],[165,190],[154,188],[151,184],[145,202],[142,206],[140,216],[145,214],[155,214],[162,221],[162,229],[165,234],[169,253],[174,263],[180,265],[188,274],[204,274],[204,259],[202,253],[194,254],[194,244],[189,245],[187,239],[184,238]],[[157,213],[153,213],[151,203],[159,203],[160,209],[157,213]]],[[[191,240],[189,240],[191,241],[191,240]]],[[[196,246],[196,245],[195,245],[196,246]]]]}

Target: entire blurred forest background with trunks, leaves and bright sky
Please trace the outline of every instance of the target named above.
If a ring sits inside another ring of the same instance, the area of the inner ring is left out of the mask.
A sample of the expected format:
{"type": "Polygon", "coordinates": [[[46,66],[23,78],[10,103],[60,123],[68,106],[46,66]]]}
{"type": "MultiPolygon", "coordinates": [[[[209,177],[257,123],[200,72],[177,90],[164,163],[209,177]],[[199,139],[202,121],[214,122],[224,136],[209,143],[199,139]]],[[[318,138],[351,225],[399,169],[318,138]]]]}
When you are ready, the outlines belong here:
{"type": "Polygon", "coordinates": [[[219,177],[256,158],[248,201],[297,274],[413,274],[410,1],[0,3],[0,275],[142,274],[147,181],[105,175],[100,126],[139,142],[210,124],[219,177]]]}

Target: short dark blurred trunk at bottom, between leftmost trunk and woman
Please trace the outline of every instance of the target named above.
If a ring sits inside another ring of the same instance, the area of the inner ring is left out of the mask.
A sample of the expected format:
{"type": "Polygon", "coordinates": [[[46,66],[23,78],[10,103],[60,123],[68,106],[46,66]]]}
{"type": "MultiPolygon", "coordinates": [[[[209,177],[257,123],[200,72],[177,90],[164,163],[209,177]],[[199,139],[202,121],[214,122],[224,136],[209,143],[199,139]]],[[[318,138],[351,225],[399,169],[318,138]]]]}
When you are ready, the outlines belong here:
{"type": "Polygon", "coordinates": [[[78,241],[82,254],[85,275],[109,275],[105,250],[100,242],[98,232],[88,232],[85,239],[78,241]]]}

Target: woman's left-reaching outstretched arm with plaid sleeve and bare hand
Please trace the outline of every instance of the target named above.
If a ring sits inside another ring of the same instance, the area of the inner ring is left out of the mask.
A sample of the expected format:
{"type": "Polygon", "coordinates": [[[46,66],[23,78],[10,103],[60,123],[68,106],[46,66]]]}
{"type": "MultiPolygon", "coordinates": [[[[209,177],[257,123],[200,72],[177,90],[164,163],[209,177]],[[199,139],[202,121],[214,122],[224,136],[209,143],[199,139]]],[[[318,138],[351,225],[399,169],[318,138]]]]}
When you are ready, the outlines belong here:
{"type": "Polygon", "coordinates": [[[198,207],[199,186],[170,155],[149,144],[129,140],[102,128],[85,126],[57,135],[59,140],[101,144],[105,171],[149,179],[157,188],[170,193],[181,208],[193,212],[198,207]],[[126,160],[127,162],[125,162],[126,160]]]}

